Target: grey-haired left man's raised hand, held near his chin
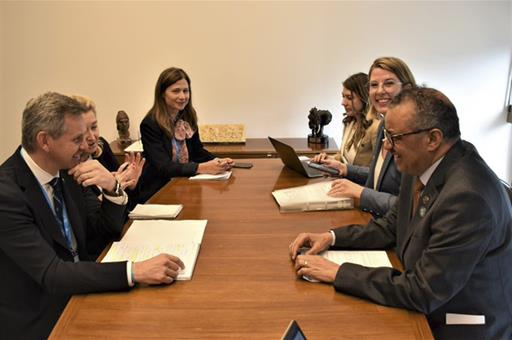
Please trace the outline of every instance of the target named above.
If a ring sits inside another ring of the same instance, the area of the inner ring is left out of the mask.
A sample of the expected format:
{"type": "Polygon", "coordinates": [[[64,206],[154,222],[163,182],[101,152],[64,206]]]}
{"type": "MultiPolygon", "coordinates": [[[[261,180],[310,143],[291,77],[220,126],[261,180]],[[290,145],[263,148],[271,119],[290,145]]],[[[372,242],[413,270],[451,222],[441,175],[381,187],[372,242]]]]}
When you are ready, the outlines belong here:
{"type": "Polygon", "coordinates": [[[116,179],[100,162],[90,159],[78,164],[68,171],[68,174],[84,187],[97,185],[106,191],[114,191],[116,179]]]}

